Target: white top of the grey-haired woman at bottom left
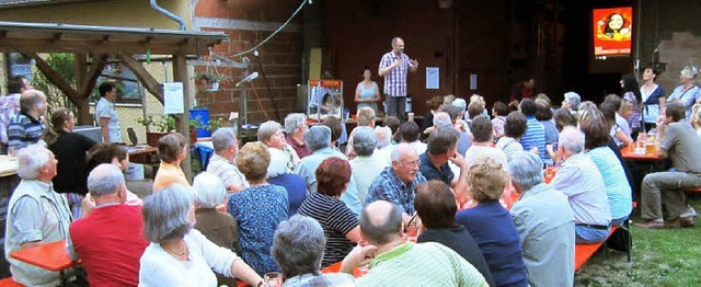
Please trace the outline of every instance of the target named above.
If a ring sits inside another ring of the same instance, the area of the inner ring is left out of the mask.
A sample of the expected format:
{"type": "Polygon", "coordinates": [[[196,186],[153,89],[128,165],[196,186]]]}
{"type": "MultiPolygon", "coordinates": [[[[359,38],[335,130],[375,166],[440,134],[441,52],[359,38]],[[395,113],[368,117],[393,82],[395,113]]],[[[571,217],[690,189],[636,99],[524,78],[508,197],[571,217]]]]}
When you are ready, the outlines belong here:
{"type": "Polygon", "coordinates": [[[199,231],[193,229],[185,236],[189,261],[179,261],[159,243],[146,248],[140,260],[139,286],[202,286],[216,287],[214,272],[232,277],[231,265],[239,259],[231,250],[211,243],[199,231]],[[214,269],[214,272],[212,272],[214,269]]]}

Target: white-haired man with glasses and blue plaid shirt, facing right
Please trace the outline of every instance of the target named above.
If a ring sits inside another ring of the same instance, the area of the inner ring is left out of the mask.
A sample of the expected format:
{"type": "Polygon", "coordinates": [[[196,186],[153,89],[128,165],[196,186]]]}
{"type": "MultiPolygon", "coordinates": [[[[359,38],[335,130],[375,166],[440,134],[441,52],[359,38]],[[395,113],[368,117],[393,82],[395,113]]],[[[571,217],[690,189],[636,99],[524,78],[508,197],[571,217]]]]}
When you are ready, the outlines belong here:
{"type": "Polygon", "coordinates": [[[426,182],[426,177],[420,171],[421,160],[412,146],[397,145],[392,149],[390,159],[392,165],[384,168],[370,184],[365,205],[377,200],[393,203],[402,211],[404,222],[409,222],[414,215],[416,185],[426,182]]]}

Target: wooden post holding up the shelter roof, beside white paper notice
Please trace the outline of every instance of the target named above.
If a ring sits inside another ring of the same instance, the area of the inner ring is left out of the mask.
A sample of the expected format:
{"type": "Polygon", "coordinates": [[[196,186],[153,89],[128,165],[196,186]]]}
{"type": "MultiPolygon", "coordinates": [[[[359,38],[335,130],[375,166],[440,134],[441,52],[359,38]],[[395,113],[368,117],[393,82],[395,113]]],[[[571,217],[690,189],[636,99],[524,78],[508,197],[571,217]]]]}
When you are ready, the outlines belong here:
{"type": "MultiPolygon", "coordinates": [[[[182,134],[186,139],[189,140],[189,79],[187,77],[187,57],[185,54],[175,54],[173,55],[173,81],[183,83],[183,107],[184,113],[180,116],[180,120],[177,120],[177,133],[182,134]]],[[[195,145],[195,142],[189,142],[189,148],[195,145]]],[[[192,168],[192,157],[189,152],[187,152],[187,157],[180,164],[181,169],[185,173],[185,176],[189,182],[192,182],[193,177],[193,168],[192,168]]]]}

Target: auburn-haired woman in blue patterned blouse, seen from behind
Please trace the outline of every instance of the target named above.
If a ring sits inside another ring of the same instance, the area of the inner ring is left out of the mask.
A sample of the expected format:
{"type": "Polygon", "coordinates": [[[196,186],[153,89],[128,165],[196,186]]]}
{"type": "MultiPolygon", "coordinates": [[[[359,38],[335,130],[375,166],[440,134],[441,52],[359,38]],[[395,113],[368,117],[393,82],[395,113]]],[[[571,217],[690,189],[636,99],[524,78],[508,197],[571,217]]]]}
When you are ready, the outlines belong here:
{"type": "Polygon", "coordinates": [[[241,257],[257,273],[278,272],[271,255],[277,225],[287,219],[289,200],[285,187],[268,184],[271,154],[260,141],[241,148],[237,165],[250,186],[229,196],[228,211],[239,222],[241,257]]]}

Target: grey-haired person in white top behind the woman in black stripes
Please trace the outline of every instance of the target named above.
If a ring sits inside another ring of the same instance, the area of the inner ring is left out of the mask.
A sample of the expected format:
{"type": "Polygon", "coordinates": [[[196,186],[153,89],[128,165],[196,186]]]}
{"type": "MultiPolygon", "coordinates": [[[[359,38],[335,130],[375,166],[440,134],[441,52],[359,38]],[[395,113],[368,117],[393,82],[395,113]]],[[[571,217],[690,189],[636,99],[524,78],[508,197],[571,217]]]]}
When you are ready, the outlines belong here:
{"type": "MultiPolygon", "coordinates": [[[[409,122],[407,122],[409,123],[409,122]]],[[[387,162],[377,156],[374,156],[377,147],[377,136],[371,127],[360,127],[353,135],[353,149],[356,157],[350,160],[350,175],[355,179],[356,188],[358,191],[358,199],[365,203],[368,195],[370,184],[382,172],[387,162]]]]}

